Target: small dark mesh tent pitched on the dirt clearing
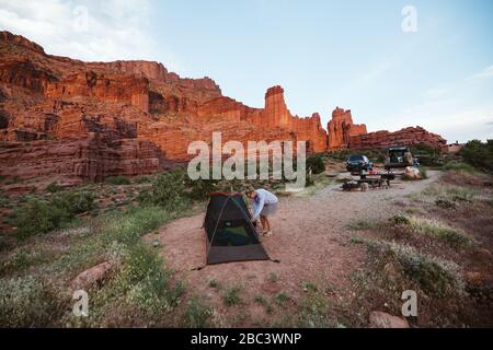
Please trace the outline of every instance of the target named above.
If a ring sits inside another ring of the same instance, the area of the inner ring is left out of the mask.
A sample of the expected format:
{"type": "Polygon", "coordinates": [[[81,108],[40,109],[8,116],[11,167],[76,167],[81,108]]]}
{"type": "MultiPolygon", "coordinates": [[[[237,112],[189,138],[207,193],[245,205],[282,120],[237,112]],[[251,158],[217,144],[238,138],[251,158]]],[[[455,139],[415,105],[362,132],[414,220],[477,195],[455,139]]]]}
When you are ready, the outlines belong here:
{"type": "Polygon", "coordinates": [[[259,241],[241,194],[211,194],[204,229],[207,265],[271,259],[259,241]]]}

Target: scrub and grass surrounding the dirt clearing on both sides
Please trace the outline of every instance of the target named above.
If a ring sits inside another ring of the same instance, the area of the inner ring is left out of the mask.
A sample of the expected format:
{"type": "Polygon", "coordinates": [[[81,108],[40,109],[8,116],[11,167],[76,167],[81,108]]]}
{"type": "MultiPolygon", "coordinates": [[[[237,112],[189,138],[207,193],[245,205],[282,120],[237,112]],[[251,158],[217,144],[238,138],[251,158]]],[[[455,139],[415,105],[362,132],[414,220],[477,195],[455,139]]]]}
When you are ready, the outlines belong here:
{"type": "MultiPolygon", "coordinates": [[[[337,159],[344,158],[344,152],[310,158],[313,186],[307,194],[340,186],[325,168],[339,172],[337,159]]],[[[173,220],[200,214],[209,192],[253,185],[282,196],[282,182],[191,182],[176,168],[74,187],[50,182],[21,196],[1,192],[7,230],[0,237],[0,324],[366,327],[370,311],[399,315],[400,294],[415,290],[420,316],[409,319],[411,326],[491,325],[491,175],[466,158],[429,168],[429,185],[399,197],[388,213],[355,217],[339,236],[325,237],[356,254],[348,298],[326,278],[303,279],[294,289],[276,271],[265,276],[267,293],[252,293],[248,280],[217,275],[203,281],[204,294],[160,254],[163,243],[154,233],[173,220]],[[88,285],[89,317],[74,317],[69,285],[105,262],[105,277],[88,285]]]]}

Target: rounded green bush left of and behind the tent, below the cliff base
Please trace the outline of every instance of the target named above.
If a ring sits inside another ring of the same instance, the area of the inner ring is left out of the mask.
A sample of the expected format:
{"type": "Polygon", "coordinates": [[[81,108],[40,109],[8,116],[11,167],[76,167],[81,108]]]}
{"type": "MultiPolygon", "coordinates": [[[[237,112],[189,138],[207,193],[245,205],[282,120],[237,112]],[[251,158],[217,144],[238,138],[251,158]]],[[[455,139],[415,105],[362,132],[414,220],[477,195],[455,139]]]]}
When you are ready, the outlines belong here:
{"type": "Polygon", "coordinates": [[[144,189],[137,199],[145,206],[172,210],[187,201],[185,189],[185,173],[175,170],[159,174],[151,187],[144,189]]]}

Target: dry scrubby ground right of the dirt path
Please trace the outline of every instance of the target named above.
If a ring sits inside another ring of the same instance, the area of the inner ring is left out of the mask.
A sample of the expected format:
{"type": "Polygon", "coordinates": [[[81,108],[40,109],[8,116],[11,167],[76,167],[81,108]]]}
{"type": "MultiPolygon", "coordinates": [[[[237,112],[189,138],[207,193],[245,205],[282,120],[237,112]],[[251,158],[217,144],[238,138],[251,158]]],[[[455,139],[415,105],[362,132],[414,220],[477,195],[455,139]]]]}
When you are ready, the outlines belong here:
{"type": "Polygon", "coordinates": [[[414,290],[422,295],[415,326],[491,326],[491,177],[460,162],[443,168],[440,182],[398,202],[398,214],[348,226],[351,243],[367,252],[353,276],[362,293],[352,307],[400,314],[399,294],[414,290]]]}

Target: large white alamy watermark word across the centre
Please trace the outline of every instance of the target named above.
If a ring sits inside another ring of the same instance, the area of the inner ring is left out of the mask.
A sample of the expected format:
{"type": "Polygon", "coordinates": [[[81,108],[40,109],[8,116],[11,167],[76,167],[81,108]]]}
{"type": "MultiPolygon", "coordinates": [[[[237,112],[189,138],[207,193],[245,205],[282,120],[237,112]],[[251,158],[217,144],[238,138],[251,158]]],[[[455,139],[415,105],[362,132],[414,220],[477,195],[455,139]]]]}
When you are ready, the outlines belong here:
{"type": "Polygon", "coordinates": [[[214,132],[211,144],[194,141],[187,152],[195,155],[187,168],[192,180],[286,179],[290,182],[287,191],[301,190],[307,184],[306,141],[248,141],[245,149],[240,141],[222,144],[221,132],[214,132]]]}

